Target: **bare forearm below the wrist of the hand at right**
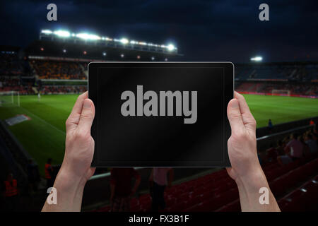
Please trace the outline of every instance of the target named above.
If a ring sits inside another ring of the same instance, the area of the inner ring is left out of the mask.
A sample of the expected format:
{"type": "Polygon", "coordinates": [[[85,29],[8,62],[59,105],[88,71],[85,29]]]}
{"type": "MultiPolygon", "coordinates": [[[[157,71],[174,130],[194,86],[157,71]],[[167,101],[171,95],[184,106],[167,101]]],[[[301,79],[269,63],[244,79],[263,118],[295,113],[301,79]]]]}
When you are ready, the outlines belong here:
{"type": "Polygon", "coordinates": [[[261,167],[251,170],[243,177],[235,180],[239,194],[242,211],[254,212],[276,212],[280,211],[275,197],[271,193],[269,184],[261,167]],[[259,193],[259,189],[266,188],[269,191],[269,203],[261,204],[259,201],[263,193],[259,193]]]}

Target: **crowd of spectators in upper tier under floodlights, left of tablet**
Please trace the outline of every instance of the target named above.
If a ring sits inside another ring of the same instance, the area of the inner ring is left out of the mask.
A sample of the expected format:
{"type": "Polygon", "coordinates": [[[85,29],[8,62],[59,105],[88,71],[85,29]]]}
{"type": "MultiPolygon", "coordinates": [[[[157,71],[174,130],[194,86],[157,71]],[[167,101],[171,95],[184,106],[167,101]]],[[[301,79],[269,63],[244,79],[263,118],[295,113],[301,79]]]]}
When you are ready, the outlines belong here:
{"type": "Polygon", "coordinates": [[[86,79],[83,66],[77,62],[33,60],[30,64],[40,79],[86,79]]]}

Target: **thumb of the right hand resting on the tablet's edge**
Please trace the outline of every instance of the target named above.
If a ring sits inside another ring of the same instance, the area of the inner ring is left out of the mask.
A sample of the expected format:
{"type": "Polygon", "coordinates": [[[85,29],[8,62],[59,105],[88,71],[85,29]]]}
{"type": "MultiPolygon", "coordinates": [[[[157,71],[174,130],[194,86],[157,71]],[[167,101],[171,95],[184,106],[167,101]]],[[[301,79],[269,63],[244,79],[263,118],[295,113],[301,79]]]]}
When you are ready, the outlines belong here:
{"type": "Polygon", "coordinates": [[[240,104],[237,99],[232,99],[228,103],[228,121],[230,121],[232,133],[245,130],[240,112],[240,104]]]}

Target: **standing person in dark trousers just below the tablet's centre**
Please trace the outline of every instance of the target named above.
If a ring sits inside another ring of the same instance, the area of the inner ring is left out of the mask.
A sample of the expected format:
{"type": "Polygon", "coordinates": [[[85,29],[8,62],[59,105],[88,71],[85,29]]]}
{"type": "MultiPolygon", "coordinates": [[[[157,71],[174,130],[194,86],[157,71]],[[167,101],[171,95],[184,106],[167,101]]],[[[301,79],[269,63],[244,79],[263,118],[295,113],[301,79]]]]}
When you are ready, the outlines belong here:
{"type": "Polygon", "coordinates": [[[153,168],[149,181],[151,182],[151,196],[153,211],[163,210],[165,208],[165,186],[171,186],[174,174],[172,168],[153,168]],[[169,182],[167,182],[167,173],[169,172],[169,182]]]}

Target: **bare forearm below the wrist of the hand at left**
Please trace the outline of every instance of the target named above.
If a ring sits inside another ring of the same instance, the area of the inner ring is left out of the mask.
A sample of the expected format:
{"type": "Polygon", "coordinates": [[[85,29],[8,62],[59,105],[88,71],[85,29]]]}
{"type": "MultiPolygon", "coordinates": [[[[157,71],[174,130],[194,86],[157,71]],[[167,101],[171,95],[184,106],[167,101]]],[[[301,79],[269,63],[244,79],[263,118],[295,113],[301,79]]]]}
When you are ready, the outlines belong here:
{"type": "Polygon", "coordinates": [[[57,204],[45,201],[43,212],[76,212],[81,211],[85,179],[71,176],[64,169],[60,169],[54,188],[57,189],[57,204]]]}

